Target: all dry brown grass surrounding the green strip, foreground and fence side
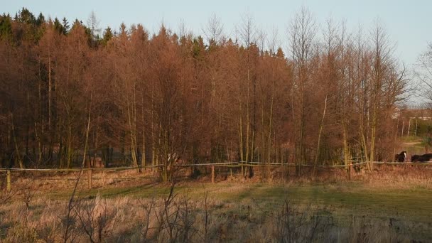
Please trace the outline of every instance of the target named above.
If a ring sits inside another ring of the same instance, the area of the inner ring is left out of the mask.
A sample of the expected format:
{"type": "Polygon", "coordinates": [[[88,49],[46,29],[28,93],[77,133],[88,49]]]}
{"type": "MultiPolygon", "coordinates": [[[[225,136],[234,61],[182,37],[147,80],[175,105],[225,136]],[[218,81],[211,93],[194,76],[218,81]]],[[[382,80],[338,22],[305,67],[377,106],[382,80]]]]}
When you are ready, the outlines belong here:
{"type": "MultiPolygon", "coordinates": [[[[255,178],[224,180],[217,177],[211,189],[210,198],[204,194],[190,196],[195,191],[180,190],[167,205],[169,195],[153,198],[117,196],[104,198],[82,196],[74,202],[71,213],[70,237],[68,242],[289,242],[304,239],[305,242],[404,242],[416,239],[407,234],[406,228],[414,228],[415,222],[404,222],[377,217],[353,215],[350,220],[340,219],[333,210],[320,205],[301,205],[284,200],[275,207],[267,202],[227,201],[217,195],[241,195],[257,190],[257,183],[266,181],[271,185],[291,187],[323,184],[326,188],[350,193],[352,188],[342,170],[321,170],[316,178],[303,176],[279,179],[276,175],[284,171],[272,171],[273,178],[260,175],[255,178]],[[229,185],[229,186],[228,186],[229,185]],[[206,210],[207,209],[207,210],[206,210]],[[393,220],[393,221],[392,221],[393,220]],[[313,239],[308,237],[313,234],[313,239]]],[[[291,174],[291,173],[290,173],[291,174]]],[[[372,173],[355,173],[352,183],[362,183],[367,188],[432,188],[432,170],[423,166],[380,166],[372,173]]],[[[47,192],[71,190],[76,174],[51,174],[31,177],[30,173],[13,174],[13,193],[0,205],[0,240],[2,242],[63,242],[66,198],[50,198],[47,192]]],[[[154,181],[156,172],[121,171],[117,173],[95,173],[95,188],[129,188],[154,181]]],[[[209,175],[198,178],[202,183],[210,181],[209,175]]],[[[179,187],[200,187],[206,185],[183,178],[179,187]]],[[[211,185],[211,186],[210,186],[211,185]]],[[[167,187],[168,185],[161,185],[167,187]]],[[[83,176],[80,191],[87,189],[87,177],[83,176]]],[[[261,191],[253,195],[259,195],[261,191]]],[[[275,193],[279,193],[276,190],[275,193]]],[[[8,195],[2,190],[1,195],[8,195]]],[[[266,194],[267,195],[267,194],[266,194]]],[[[431,227],[417,225],[416,227],[431,227]]],[[[427,236],[426,236],[427,237],[427,236]]],[[[427,239],[427,238],[420,238],[427,239]]]]}

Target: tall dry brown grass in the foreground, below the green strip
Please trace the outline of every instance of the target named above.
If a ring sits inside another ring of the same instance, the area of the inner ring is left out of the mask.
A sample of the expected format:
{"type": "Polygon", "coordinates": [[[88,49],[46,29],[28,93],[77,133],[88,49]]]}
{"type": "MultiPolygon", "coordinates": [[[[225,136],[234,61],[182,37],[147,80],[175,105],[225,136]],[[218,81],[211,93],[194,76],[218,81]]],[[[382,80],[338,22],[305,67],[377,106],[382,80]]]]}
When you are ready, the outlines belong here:
{"type": "MultiPolygon", "coordinates": [[[[323,215],[322,208],[299,207],[288,201],[264,214],[251,205],[225,205],[210,199],[206,220],[204,200],[178,196],[168,207],[169,219],[163,222],[164,202],[163,199],[99,196],[80,200],[72,214],[68,241],[394,242],[408,239],[384,222],[354,218],[350,225],[341,227],[332,215],[323,215]]],[[[32,201],[29,207],[25,203],[2,205],[0,237],[3,242],[63,242],[65,207],[64,200],[41,198],[32,201]]]]}

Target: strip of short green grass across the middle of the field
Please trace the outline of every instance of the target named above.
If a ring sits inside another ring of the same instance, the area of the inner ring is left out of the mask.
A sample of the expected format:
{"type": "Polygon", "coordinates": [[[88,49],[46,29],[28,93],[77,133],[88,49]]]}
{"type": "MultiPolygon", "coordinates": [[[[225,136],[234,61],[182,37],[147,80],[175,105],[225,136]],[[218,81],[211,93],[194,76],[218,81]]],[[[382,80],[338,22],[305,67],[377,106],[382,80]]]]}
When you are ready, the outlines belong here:
{"type": "MultiPolygon", "coordinates": [[[[374,215],[376,217],[398,217],[419,222],[431,222],[432,193],[427,188],[385,189],[368,188],[359,182],[312,183],[303,185],[269,185],[262,183],[183,183],[177,185],[175,193],[195,200],[202,200],[205,191],[209,198],[241,204],[254,204],[274,208],[284,200],[300,205],[318,205],[331,208],[337,215],[374,215]]],[[[146,183],[128,188],[105,188],[82,190],[80,197],[102,195],[107,198],[163,198],[169,186],[146,183]]],[[[49,193],[48,198],[68,198],[69,190],[49,193]]]]}

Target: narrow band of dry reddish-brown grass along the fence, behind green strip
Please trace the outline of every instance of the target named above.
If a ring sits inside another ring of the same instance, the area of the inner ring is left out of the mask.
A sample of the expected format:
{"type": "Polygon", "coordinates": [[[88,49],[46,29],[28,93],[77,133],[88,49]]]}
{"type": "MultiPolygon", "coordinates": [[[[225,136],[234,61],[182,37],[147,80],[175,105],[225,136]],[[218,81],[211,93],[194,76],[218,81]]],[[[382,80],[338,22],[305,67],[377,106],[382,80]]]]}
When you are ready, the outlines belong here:
{"type": "MultiPolygon", "coordinates": [[[[348,181],[347,172],[340,168],[329,169],[320,168],[315,177],[311,177],[311,168],[304,168],[303,175],[298,177],[294,174],[294,168],[271,168],[270,175],[266,173],[267,168],[255,167],[254,177],[243,179],[242,176],[233,172],[231,177],[225,168],[220,173],[216,173],[216,183],[266,183],[269,185],[291,185],[291,184],[311,184],[311,183],[340,183],[348,181]]],[[[180,183],[210,183],[211,175],[202,174],[198,178],[189,178],[188,174],[180,173],[180,183]]],[[[80,188],[88,187],[87,172],[80,180],[80,188]]],[[[373,187],[383,188],[411,188],[423,187],[432,188],[432,166],[375,166],[372,173],[365,170],[360,173],[352,173],[352,180],[368,183],[373,187]]],[[[58,190],[71,190],[75,185],[77,173],[12,173],[12,184],[16,188],[22,185],[32,185],[41,192],[53,192],[58,190]]],[[[127,188],[135,185],[142,185],[149,181],[158,181],[156,170],[147,169],[144,173],[138,171],[115,171],[115,172],[93,172],[93,188],[127,188]]]]}

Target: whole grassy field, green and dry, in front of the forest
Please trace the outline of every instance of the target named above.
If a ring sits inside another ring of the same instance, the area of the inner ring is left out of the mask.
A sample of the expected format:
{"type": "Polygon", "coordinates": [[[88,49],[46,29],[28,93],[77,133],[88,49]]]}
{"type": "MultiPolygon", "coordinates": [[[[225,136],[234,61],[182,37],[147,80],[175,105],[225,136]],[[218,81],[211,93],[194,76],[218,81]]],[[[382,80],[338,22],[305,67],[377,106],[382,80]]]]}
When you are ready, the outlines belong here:
{"type": "MultiPolygon", "coordinates": [[[[190,237],[189,232],[190,238],[185,239],[191,242],[201,242],[203,239],[210,242],[281,241],[280,239],[287,237],[290,224],[299,225],[301,231],[294,234],[299,239],[303,239],[304,235],[314,235],[313,232],[316,231],[311,242],[429,242],[432,240],[431,175],[430,168],[380,168],[374,173],[356,174],[352,180],[346,180],[338,173],[321,175],[314,180],[291,178],[271,183],[259,179],[242,182],[236,178],[209,183],[206,176],[198,180],[185,178],[173,187],[175,197],[172,203],[175,206],[170,206],[170,210],[177,208],[178,212],[184,214],[184,207],[187,207],[186,211],[191,214],[183,217],[190,217],[190,222],[194,222],[190,230],[196,232],[207,232],[207,227],[204,229],[202,226],[205,225],[207,215],[208,232],[205,238],[202,238],[203,233],[201,236],[191,234],[193,237],[190,237]],[[207,208],[206,212],[204,208],[207,208]],[[303,222],[294,220],[302,217],[303,222]],[[321,219],[318,224],[316,218],[319,217],[324,217],[325,220],[321,219]],[[281,220],[283,218],[285,220],[281,220]],[[311,221],[312,219],[315,221],[311,221]],[[282,227],[284,222],[289,224],[282,227]],[[320,227],[313,227],[314,222],[320,227]]],[[[106,225],[104,241],[171,241],[170,234],[163,233],[163,230],[169,229],[168,226],[157,234],[149,233],[144,238],[137,233],[141,232],[136,229],[138,222],[147,221],[148,225],[159,225],[158,229],[161,229],[163,216],[156,217],[155,211],[152,217],[145,220],[146,211],[143,208],[148,208],[150,202],[163,205],[164,198],[169,198],[170,195],[171,185],[158,183],[149,177],[151,176],[134,173],[101,173],[95,175],[95,188],[92,190],[87,189],[85,177],[82,178],[77,190],[78,205],[82,208],[92,208],[88,203],[95,208],[104,205],[104,210],[99,208],[95,212],[111,215],[112,223],[106,225]],[[121,220],[124,220],[123,223],[121,220]]],[[[38,178],[18,176],[13,185],[17,189],[22,187],[22,190],[16,190],[12,198],[0,205],[1,239],[13,242],[17,240],[13,238],[13,234],[22,234],[20,230],[34,227],[34,231],[31,231],[34,239],[49,242],[49,236],[53,235],[53,242],[62,241],[60,232],[64,231],[64,225],[56,218],[64,217],[72,193],[73,178],[73,175],[47,175],[38,178]],[[70,180],[58,180],[60,178],[70,180]],[[29,188],[33,193],[28,193],[29,188]],[[17,217],[26,218],[29,226],[21,229],[17,217]],[[51,225],[49,229],[53,232],[48,234],[46,229],[40,228],[38,222],[51,225]]],[[[78,205],[76,207],[80,208],[78,205]]],[[[80,210],[75,210],[74,217],[82,218],[78,217],[80,210]]],[[[94,213],[91,212],[90,215],[94,213]]],[[[97,217],[93,217],[94,220],[95,218],[97,217]]],[[[170,218],[167,217],[166,222],[169,221],[170,218]]],[[[92,225],[91,220],[85,222],[92,225]]],[[[84,222],[81,227],[83,225],[84,222]]],[[[79,228],[79,225],[75,226],[79,228]]],[[[93,227],[97,232],[97,224],[93,227]]],[[[178,229],[178,232],[185,234],[184,230],[178,229]]],[[[82,230],[77,229],[76,234],[77,241],[86,242],[90,239],[86,238],[88,234],[82,230]]],[[[97,234],[94,234],[96,239],[97,234]]]]}

